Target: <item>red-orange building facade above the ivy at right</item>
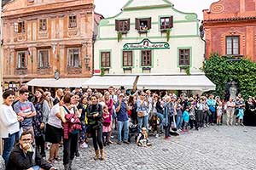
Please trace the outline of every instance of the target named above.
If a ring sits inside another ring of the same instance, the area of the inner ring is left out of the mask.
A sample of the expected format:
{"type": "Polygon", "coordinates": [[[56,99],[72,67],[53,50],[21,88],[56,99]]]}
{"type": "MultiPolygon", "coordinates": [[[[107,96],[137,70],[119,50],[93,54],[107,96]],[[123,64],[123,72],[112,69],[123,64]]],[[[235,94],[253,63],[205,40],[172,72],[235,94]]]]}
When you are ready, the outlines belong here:
{"type": "Polygon", "coordinates": [[[220,0],[203,13],[207,57],[218,52],[256,61],[255,0],[220,0]]]}

